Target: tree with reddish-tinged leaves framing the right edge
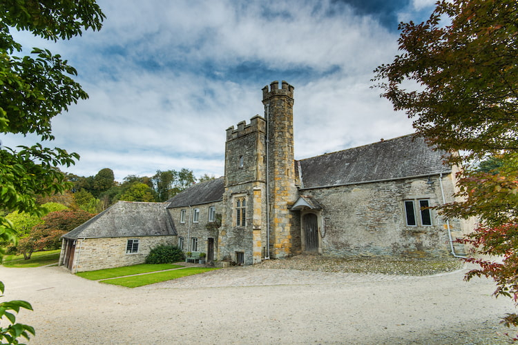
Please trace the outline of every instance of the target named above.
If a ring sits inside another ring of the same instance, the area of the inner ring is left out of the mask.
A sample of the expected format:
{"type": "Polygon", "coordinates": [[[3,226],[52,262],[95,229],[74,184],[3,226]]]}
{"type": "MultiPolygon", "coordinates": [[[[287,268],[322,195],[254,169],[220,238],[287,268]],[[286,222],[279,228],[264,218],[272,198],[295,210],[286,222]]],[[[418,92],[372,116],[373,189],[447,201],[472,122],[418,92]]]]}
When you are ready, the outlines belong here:
{"type": "MultiPolygon", "coordinates": [[[[477,217],[478,228],[463,241],[503,258],[469,258],[480,269],[466,279],[492,277],[495,295],[518,302],[518,3],[440,1],[425,23],[399,28],[402,53],[378,67],[374,80],[430,144],[461,152],[449,161],[463,167],[457,193],[463,201],[441,213],[477,217]],[[483,159],[487,164],[472,168],[483,159]]],[[[518,316],[505,322],[516,326],[518,316]]]]}

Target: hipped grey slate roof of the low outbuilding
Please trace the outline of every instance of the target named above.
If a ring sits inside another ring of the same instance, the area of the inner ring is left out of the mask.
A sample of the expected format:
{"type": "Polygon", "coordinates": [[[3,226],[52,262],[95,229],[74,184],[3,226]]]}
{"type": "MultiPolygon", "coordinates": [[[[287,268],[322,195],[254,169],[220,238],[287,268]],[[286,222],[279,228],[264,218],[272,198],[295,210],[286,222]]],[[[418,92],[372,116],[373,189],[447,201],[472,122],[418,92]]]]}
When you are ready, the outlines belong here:
{"type": "Polygon", "coordinates": [[[62,237],[132,237],[176,235],[164,203],[118,201],[62,237]]]}

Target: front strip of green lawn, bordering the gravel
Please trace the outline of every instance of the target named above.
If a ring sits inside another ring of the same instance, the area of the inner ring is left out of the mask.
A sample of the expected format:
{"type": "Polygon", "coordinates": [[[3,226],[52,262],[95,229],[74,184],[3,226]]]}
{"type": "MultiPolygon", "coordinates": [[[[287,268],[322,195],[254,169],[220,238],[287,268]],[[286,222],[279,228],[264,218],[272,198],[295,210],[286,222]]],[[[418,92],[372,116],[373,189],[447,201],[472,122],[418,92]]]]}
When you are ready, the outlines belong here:
{"type": "Polygon", "coordinates": [[[148,284],[165,282],[166,280],[186,277],[188,275],[197,275],[209,270],[217,270],[218,268],[189,267],[181,270],[167,270],[165,272],[149,273],[147,275],[133,275],[132,277],[121,277],[115,279],[102,280],[102,283],[126,286],[126,288],[136,288],[148,284]]]}

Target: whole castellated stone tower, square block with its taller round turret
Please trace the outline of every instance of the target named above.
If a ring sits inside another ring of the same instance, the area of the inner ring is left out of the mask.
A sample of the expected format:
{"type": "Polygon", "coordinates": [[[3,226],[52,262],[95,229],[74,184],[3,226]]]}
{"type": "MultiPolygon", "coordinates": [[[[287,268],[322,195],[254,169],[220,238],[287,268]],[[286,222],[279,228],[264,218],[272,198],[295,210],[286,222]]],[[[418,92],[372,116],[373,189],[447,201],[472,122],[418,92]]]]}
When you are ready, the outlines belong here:
{"type": "Polygon", "coordinates": [[[262,89],[265,117],[227,129],[225,191],[218,259],[256,264],[300,248],[294,172],[294,87],[274,81],[262,89]]]}

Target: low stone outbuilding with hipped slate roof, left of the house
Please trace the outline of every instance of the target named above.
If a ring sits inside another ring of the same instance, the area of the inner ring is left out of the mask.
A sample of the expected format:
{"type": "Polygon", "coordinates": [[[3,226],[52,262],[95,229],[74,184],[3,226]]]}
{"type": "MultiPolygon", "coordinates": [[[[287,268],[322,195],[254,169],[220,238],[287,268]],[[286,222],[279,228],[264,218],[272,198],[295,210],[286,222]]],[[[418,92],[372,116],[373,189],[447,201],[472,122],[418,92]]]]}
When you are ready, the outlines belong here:
{"type": "Polygon", "coordinates": [[[62,236],[59,265],[73,273],[143,264],[159,244],[177,244],[166,204],[118,201],[62,236]]]}

